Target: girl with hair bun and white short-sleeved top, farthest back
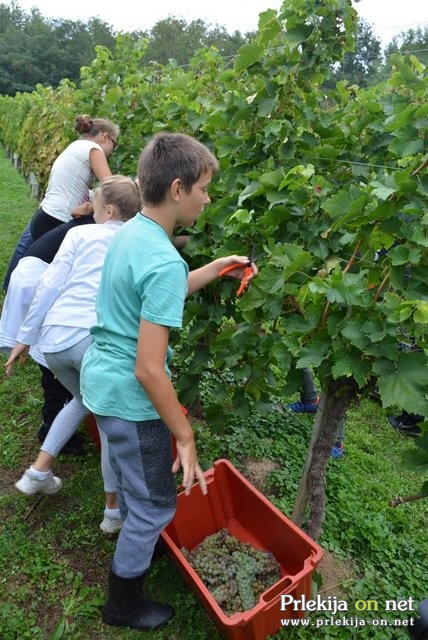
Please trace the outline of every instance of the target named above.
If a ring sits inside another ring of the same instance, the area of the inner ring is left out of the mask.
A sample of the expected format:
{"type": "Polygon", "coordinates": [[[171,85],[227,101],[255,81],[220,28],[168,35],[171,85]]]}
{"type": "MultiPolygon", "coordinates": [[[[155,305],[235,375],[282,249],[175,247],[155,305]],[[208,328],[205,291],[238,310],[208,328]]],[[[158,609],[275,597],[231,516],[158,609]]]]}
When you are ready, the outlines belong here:
{"type": "Polygon", "coordinates": [[[68,222],[73,209],[89,200],[93,182],[111,176],[107,159],[117,146],[119,128],[109,120],[81,115],[76,117],[74,129],[80,138],[69,144],[52,165],[45,196],[10,259],[5,290],[13,269],[34,240],[68,222]]]}

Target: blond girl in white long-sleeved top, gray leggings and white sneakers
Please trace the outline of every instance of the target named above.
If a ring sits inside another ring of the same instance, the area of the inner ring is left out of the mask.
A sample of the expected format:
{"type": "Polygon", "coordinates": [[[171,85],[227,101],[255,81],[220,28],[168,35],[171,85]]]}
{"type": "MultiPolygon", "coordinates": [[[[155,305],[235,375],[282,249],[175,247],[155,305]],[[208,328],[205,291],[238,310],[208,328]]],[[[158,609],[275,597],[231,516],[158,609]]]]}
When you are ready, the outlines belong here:
{"type": "MultiPolygon", "coordinates": [[[[90,327],[95,324],[95,299],[105,254],[121,225],[140,209],[135,182],[124,176],[104,180],[94,193],[97,224],[70,229],[53,262],[40,278],[31,306],[17,336],[17,344],[6,362],[10,375],[13,362],[25,357],[30,345],[43,352],[49,369],[73,394],[60,411],[46,436],[40,453],[16,483],[28,495],[53,494],[62,481],[52,473],[56,456],[76,431],[89,410],[80,396],[80,365],[89,346],[90,327]]],[[[107,442],[101,437],[101,469],[106,492],[106,509],[100,527],[113,531],[121,525],[116,498],[116,476],[108,460],[107,442]]]]}

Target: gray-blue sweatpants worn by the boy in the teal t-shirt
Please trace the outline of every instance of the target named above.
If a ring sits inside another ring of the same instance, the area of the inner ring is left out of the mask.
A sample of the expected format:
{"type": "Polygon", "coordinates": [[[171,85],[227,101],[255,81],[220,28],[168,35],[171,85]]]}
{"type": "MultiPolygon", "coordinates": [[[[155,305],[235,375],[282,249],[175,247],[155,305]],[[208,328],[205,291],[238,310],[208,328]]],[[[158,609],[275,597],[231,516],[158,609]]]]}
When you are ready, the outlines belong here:
{"type": "Polygon", "coordinates": [[[112,570],[121,578],[135,578],[149,568],[159,534],[175,513],[171,434],[162,420],[98,415],[96,420],[107,434],[123,520],[112,570]]]}

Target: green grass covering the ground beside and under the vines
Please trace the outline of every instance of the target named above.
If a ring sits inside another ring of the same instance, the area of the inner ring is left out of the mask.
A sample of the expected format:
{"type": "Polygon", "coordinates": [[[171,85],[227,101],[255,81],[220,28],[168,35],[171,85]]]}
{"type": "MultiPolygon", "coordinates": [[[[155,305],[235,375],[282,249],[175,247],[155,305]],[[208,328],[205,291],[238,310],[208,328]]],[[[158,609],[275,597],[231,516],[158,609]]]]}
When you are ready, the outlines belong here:
{"type": "MultiPolygon", "coordinates": [[[[1,270],[37,203],[10,163],[0,155],[1,270]]],[[[1,357],[3,364],[5,356],[1,357]]],[[[38,450],[41,389],[37,366],[29,360],[1,375],[0,385],[0,638],[1,640],[132,640],[141,633],[104,625],[99,605],[106,589],[114,540],[98,528],[103,493],[99,456],[83,433],[84,458],[60,456],[55,472],[64,488],[56,496],[26,497],[14,482],[38,450]]],[[[200,457],[207,463],[226,457],[245,471],[246,457],[269,458],[277,468],[267,478],[266,493],[285,514],[292,511],[309,443],[313,416],[272,413],[231,421],[226,434],[214,435],[196,424],[200,457]]],[[[358,600],[377,600],[376,616],[387,617],[388,599],[416,602],[428,595],[428,502],[395,509],[389,500],[417,493],[422,480],[401,467],[401,454],[413,441],[396,434],[385,412],[365,400],[346,424],[345,456],[331,460],[327,472],[327,510],[320,544],[351,567],[342,586],[351,611],[358,600]]],[[[325,585],[324,585],[325,586],[325,585]]],[[[151,596],[171,602],[176,617],[148,640],[219,640],[211,618],[176,567],[163,557],[147,583],[151,596]]],[[[323,590],[323,585],[319,587],[323,590]]],[[[328,595],[328,593],[326,594],[328,595]]],[[[360,613],[359,617],[376,617],[360,613]]],[[[278,617],[280,614],[278,612],[278,617]]],[[[391,618],[391,615],[388,616],[391,618]]],[[[392,617],[405,618],[404,614],[392,617]]],[[[392,627],[360,629],[328,626],[283,629],[275,639],[355,638],[404,640],[392,627]]]]}

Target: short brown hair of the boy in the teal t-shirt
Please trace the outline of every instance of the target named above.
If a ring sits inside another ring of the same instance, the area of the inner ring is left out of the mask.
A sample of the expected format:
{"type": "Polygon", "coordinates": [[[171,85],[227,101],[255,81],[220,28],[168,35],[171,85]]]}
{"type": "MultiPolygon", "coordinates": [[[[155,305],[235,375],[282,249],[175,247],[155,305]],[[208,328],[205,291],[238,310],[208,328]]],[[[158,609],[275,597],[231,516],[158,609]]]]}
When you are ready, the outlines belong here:
{"type": "Polygon", "coordinates": [[[184,133],[158,133],[144,147],[138,164],[143,204],[160,204],[174,180],[186,191],[206,171],[215,173],[218,161],[201,142],[184,133]]]}

